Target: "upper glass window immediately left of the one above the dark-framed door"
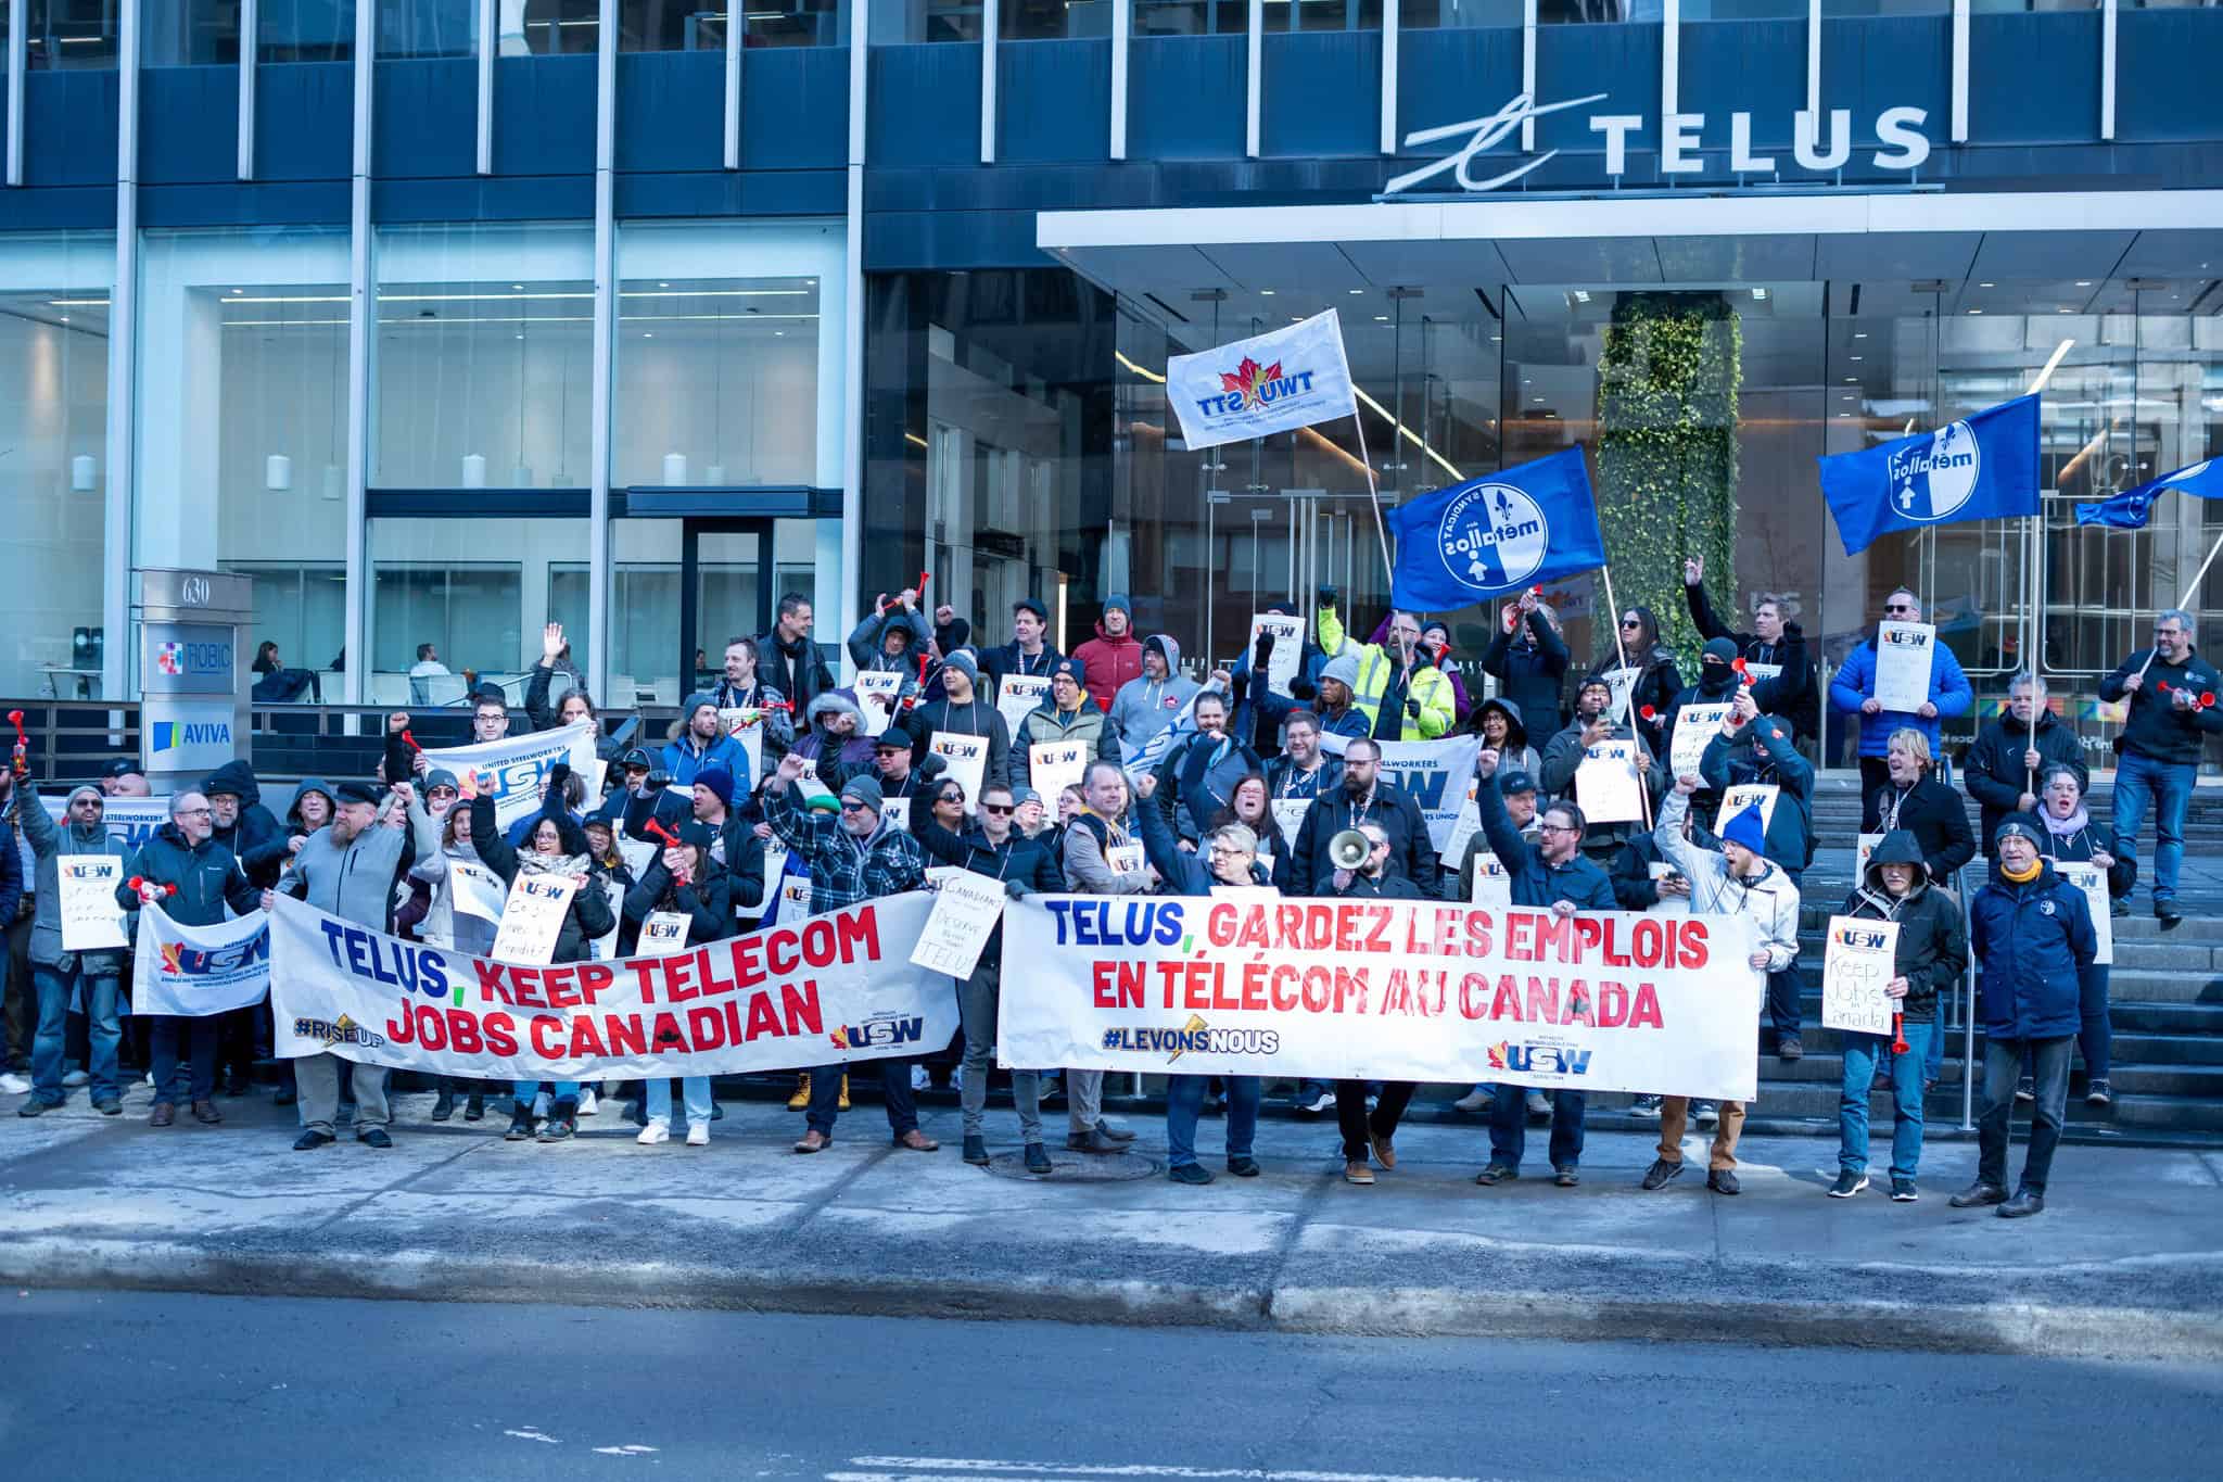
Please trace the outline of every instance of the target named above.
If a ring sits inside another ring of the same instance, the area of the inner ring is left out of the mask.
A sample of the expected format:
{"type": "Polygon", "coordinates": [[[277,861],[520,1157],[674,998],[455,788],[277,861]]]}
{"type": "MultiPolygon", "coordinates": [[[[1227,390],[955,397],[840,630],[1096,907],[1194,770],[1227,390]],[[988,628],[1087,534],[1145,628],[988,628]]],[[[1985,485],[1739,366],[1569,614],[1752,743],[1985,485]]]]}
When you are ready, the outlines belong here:
{"type": "Polygon", "coordinates": [[[380,233],[371,487],[585,489],[591,391],[591,229],[380,233]]]}

